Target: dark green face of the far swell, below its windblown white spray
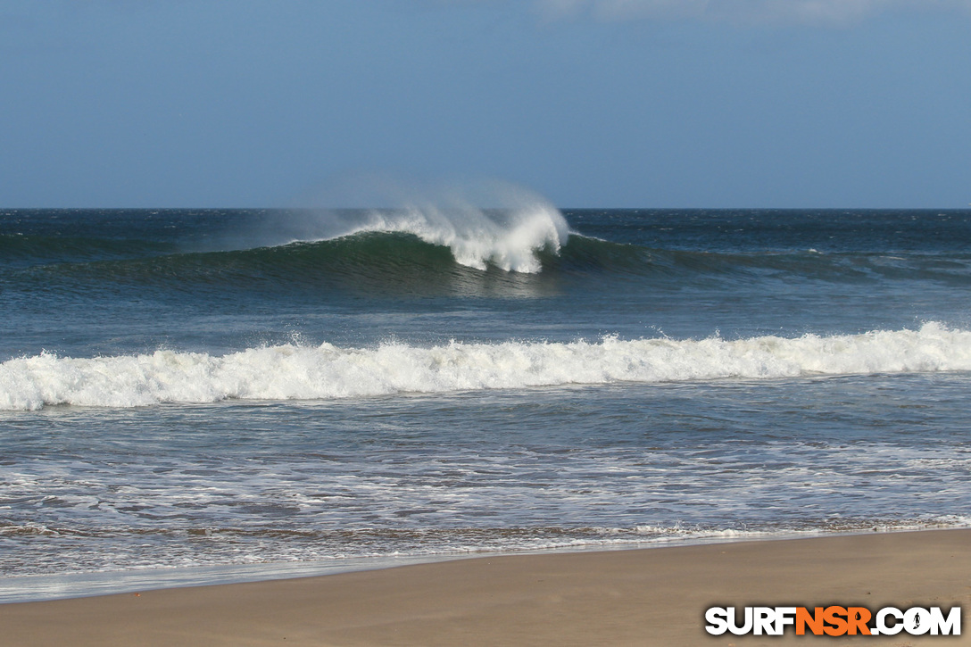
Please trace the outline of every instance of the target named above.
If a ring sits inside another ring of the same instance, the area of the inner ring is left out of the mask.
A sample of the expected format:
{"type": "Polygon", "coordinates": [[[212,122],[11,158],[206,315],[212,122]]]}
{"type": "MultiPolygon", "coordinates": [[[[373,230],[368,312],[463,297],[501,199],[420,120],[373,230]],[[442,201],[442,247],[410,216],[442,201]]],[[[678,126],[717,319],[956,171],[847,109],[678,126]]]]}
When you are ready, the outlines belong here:
{"type": "MultiPolygon", "coordinates": [[[[15,245],[7,241],[7,247],[15,245]]],[[[162,251],[159,246],[59,242],[54,249],[41,241],[18,242],[17,254],[6,256],[0,280],[11,289],[87,284],[102,286],[161,286],[183,290],[191,286],[234,289],[279,285],[352,285],[360,279],[369,289],[392,289],[407,282],[427,288],[462,278],[481,280],[492,270],[509,280],[525,280],[542,273],[641,277],[653,281],[691,283],[696,280],[781,276],[829,282],[867,282],[881,279],[931,280],[953,285],[971,282],[971,255],[820,254],[812,250],[774,254],[716,254],[652,249],[573,234],[563,247],[542,242],[539,247],[494,250],[490,246],[455,255],[412,233],[361,232],[316,242],[293,242],[224,252],[162,251]],[[65,248],[69,248],[68,251],[65,248]],[[108,248],[111,248],[110,250],[108,248]],[[129,254],[130,257],[117,257],[129,254]],[[67,260],[51,262],[62,254],[67,260]],[[484,273],[484,271],[489,271],[484,273]]]]}

